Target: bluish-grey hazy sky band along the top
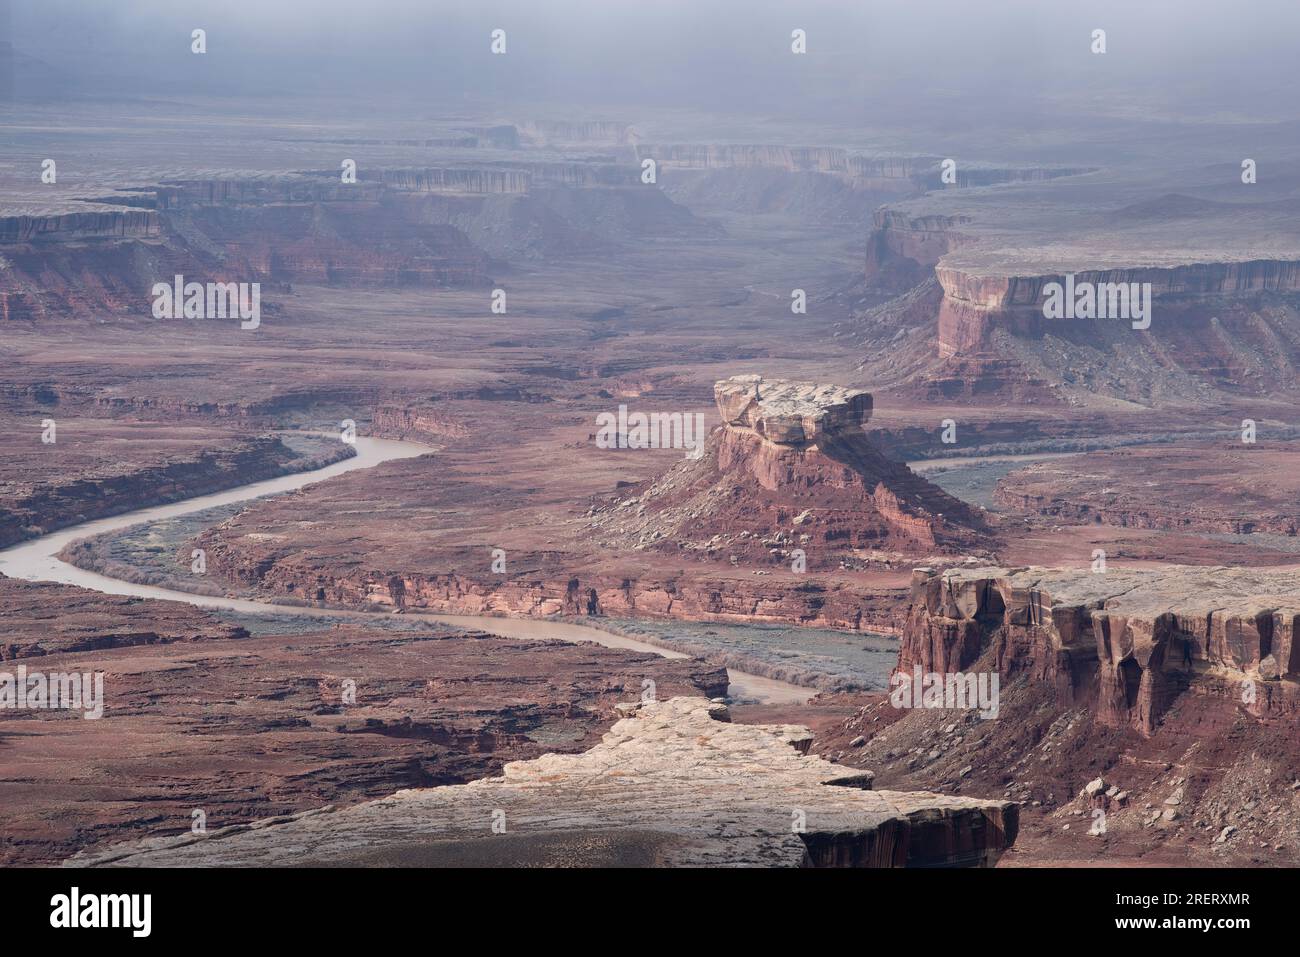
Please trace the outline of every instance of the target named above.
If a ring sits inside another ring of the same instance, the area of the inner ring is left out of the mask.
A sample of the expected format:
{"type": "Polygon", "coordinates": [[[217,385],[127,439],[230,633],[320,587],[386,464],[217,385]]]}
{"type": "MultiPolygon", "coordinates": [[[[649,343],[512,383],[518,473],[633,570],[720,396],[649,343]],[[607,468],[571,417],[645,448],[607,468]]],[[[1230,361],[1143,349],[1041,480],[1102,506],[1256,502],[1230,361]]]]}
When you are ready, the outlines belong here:
{"type": "MultiPolygon", "coordinates": [[[[554,99],[810,116],[1080,91],[1286,116],[1296,0],[0,0],[44,92],[554,99]],[[208,53],[190,52],[203,27],[208,53]],[[507,31],[491,56],[489,33],[507,31]],[[790,52],[790,31],[809,52],[790,52]],[[1089,51],[1093,29],[1108,52],[1089,51]]],[[[3,21],[3,18],[0,18],[3,21]]],[[[22,66],[22,64],[20,64],[22,66]]],[[[36,90],[35,92],[40,92],[36,90]]]]}

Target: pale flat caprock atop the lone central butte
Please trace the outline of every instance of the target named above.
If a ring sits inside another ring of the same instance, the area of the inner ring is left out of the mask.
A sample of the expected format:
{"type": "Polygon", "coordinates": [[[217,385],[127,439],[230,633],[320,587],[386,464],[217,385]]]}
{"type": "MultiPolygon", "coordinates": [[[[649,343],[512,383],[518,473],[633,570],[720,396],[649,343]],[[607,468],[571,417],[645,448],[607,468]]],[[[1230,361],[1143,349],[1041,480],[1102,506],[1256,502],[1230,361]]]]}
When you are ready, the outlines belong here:
{"type": "Polygon", "coordinates": [[[732,376],[714,384],[718,413],[768,442],[803,447],[824,436],[861,432],[871,417],[871,393],[837,385],[732,376]]]}

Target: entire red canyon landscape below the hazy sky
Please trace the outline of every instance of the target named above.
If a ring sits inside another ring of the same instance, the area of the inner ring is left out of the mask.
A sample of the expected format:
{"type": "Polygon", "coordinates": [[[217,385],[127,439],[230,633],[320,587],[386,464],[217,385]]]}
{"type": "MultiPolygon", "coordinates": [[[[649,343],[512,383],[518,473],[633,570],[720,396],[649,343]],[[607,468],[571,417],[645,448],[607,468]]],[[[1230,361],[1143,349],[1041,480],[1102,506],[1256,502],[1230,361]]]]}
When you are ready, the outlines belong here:
{"type": "Polygon", "coordinates": [[[1300,138],[1060,98],[10,99],[0,863],[1300,863],[1300,138]]]}

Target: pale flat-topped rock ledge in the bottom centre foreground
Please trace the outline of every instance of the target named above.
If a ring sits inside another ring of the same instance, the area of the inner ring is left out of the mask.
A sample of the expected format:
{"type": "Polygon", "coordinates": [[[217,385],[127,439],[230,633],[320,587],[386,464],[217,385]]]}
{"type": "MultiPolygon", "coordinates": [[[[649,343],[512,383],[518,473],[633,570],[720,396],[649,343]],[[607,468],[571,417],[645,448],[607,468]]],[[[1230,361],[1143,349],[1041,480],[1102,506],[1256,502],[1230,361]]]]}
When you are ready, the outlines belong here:
{"type": "Polygon", "coordinates": [[[499,778],[69,863],[991,866],[1015,840],[1017,805],[871,791],[870,774],[810,757],[806,728],[733,724],[706,698],[621,709],[593,749],[512,762],[499,778]]]}

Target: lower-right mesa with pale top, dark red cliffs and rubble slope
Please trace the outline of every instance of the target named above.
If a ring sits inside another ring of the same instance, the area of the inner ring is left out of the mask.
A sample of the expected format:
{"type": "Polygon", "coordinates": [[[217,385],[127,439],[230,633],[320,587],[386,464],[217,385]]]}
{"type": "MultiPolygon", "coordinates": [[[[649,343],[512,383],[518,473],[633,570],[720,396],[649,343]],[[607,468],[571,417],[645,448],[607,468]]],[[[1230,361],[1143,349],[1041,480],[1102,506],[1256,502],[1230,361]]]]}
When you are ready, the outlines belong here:
{"type": "Polygon", "coordinates": [[[1296,571],[916,570],[900,671],[994,671],[996,714],[881,696],[814,746],[1018,801],[1023,863],[1294,866],[1296,571]]]}

